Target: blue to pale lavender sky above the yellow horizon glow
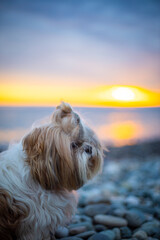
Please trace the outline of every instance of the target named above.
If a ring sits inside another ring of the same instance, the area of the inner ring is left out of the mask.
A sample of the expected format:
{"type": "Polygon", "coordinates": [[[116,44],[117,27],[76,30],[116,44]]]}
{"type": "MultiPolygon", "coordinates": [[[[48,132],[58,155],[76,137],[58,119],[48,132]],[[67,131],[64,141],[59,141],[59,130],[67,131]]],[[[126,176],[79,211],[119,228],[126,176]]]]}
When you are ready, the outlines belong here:
{"type": "Polygon", "coordinates": [[[1,73],[160,90],[160,1],[1,0],[0,31],[1,73]]]}

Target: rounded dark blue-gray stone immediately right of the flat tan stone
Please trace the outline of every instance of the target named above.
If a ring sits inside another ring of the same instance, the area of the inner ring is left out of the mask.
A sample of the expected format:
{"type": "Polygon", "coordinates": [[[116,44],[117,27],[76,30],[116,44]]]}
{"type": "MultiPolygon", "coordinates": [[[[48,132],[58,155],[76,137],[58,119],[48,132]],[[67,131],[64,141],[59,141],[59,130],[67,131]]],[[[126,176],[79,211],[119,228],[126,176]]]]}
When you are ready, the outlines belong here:
{"type": "Polygon", "coordinates": [[[146,221],[145,215],[138,210],[128,211],[125,218],[128,222],[128,226],[131,228],[138,228],[146,221]]]}

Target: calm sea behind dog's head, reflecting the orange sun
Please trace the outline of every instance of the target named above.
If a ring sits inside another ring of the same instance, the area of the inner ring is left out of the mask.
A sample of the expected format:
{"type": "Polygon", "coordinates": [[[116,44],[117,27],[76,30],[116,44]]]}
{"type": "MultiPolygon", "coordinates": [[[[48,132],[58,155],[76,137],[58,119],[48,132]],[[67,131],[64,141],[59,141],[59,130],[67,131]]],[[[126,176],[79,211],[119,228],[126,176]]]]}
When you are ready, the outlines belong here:
{"type": "MultiPolygon", "coordinates": [[[[50,107],[0,107],[0,143],[17,141],[32,124],[50,116],[50,107]]],[[[160,139],[160,108],[75,108],[108,144],[160,139]]]]}

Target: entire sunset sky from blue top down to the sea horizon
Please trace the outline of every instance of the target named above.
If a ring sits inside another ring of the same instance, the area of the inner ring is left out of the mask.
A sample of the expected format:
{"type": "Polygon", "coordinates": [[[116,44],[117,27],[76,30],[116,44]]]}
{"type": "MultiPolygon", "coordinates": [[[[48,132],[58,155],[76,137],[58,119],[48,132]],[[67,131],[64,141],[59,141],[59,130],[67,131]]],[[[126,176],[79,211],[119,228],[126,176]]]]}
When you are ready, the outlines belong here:
{"type": "Polygon", "coordinates": [[[160,2],[0,1],[0,105],[160,106],[160,2]]]}

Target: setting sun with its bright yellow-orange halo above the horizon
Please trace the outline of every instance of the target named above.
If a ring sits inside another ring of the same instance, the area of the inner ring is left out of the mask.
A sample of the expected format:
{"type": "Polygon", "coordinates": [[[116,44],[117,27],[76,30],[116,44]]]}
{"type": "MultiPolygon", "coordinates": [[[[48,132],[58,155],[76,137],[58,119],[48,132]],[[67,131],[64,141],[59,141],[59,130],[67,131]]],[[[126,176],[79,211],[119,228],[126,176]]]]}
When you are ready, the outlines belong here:
{"type": "Polygon", "coordinates": [[[97,99],[109,107],[149,107],[160,105],[160,93],[138,86],[112,85],[96,89],[97,99]]]}

